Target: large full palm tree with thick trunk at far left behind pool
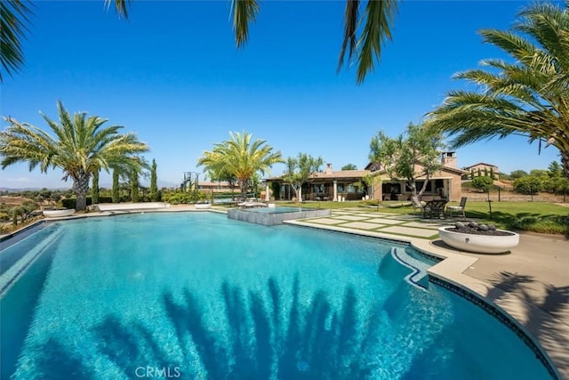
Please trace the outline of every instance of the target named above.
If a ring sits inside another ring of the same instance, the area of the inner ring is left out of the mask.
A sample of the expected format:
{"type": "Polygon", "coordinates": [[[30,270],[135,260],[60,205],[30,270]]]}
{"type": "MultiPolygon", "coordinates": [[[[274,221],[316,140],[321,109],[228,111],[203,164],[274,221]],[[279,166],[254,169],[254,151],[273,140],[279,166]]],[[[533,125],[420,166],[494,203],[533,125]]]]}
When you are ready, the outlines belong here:
{"type": "Polygon", "coordinates": [[[60,167],[63,180],[73,181],[76,209],[81,211],[86,207],[89,180],[96,170],[124,166],[140,170],[144,161],[139,155],[148,146],[134,133],[119,134],[122,126],[102,127],[107,119],[87,117],[85,112],[71,117],[60,101],[57,108],[59,123],[40,112],[55,137],[34,125],[4,117],[10,125],[0,132],[0,165],[4,169],[27,162],[30,171],[39,166],[42,173],[50,166],[60,167]]]}

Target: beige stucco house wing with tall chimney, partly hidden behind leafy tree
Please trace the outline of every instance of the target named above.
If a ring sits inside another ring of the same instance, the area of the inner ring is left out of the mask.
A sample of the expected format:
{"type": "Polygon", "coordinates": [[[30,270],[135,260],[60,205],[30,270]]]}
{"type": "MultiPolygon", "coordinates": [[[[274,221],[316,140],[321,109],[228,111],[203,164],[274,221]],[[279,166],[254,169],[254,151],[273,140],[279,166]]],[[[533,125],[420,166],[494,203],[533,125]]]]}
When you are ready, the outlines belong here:
{"type": "MultiPolygon", "coordinates": [[[[427,187],[422,195],[423,199],[446,198],[448,200],[459,200],[462,197],[461,177],[468,174],[465,170],[457,167],[456,152],[448,151],[441,153],[442,168],[429,177],[427,187]]],[[[365,166],[373,176],[376,176],[373,186],[373,198],[383,200],[407,200],[411,198],[411,189],[405,180],[392,180],[385,169],[376,163],[365,166]]],[[[422,166],[415,168],[417,191],[421,190],[425,175],[422,173],[422,166]]]]}

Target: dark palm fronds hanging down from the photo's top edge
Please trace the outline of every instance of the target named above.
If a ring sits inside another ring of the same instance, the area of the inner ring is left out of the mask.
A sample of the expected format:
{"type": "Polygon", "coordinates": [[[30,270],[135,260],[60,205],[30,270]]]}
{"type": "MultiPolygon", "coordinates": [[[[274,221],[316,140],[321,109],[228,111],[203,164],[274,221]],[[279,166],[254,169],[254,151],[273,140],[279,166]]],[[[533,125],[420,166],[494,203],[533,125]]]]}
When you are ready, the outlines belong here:
{"type": "MultiPolygon", "coordinates": [[[[129,0],[104,0],[107,7],[115,4],[119,17],[128,18],[129,0]]],[[[348,63],[357,65],[357,84],[364,82],[365,76],[373,71],[374,61],[381,58],[381,47],[391,40],[393,19],[397,13],[397,0],[347,0],[344,11],[344,37],[341,44],[338,71],[341,70],[346,56],[348,63]],[[363,12],[361,8],[364,8],[363,12]],[[358,31],[360,31],[358,36],[358,31]]],[[[29,9],[20,0],[4,0],[0,13],[2,24],[2,67],[11,73],[23,66],[20,39],[29,24],[29,9]],[[7,26],[8,28],[4,28],[7,26]],[[7,36],[4,36],[4,31],[7,36]],[[5,47],[5,49],[4,49],[5,47]],[[12,54],[14,51],[17,54],[12,54]]],[[[236,46],[242,47],[249,37],[249,24],[259,13],[256,0],[231,0],[233,29],[236,46]]],[[[0,83],[2,77],[0,76],[0,83]]]]}

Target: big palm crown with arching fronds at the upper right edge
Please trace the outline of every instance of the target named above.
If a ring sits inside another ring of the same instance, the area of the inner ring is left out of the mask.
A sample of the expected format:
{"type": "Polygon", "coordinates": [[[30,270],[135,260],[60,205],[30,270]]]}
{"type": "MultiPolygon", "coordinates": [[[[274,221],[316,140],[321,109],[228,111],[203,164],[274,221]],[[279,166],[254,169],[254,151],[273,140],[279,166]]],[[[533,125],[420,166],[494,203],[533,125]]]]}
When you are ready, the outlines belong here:
{"type": "Polygon", "coordinates": [[[495,136],[523,135],[555,146],[569,177],[569,1],[532,4],[511,31],[485,29],[485,43],[508,53],[513,63],[485,60],[489,70],[454,77],[480,90],[453,91],[428,114],[430,128],[454,135],[453,147],[495,136]],[[525,36],[521,36],[523,34],[525,36]]]}

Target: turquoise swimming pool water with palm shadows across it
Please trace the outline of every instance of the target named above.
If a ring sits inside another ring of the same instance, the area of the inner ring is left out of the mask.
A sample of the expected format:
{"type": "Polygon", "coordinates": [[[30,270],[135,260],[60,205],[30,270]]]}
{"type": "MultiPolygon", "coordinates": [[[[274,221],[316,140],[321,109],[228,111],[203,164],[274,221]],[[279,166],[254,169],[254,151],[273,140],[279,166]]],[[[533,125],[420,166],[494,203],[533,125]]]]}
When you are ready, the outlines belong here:
{"type": "Polygon", "coordinates": [[[388,242],[210,213],[45,230],[1,300],[3,379],[550,378],[475,304],[406,282],[388,242]]]}

